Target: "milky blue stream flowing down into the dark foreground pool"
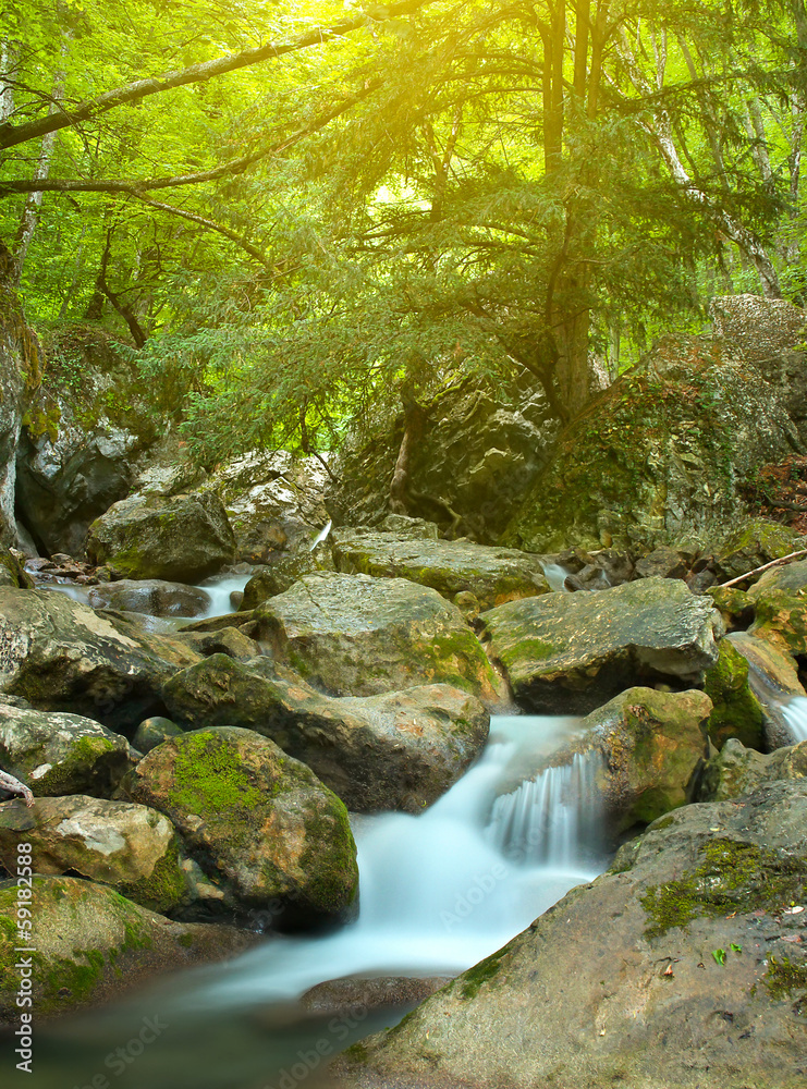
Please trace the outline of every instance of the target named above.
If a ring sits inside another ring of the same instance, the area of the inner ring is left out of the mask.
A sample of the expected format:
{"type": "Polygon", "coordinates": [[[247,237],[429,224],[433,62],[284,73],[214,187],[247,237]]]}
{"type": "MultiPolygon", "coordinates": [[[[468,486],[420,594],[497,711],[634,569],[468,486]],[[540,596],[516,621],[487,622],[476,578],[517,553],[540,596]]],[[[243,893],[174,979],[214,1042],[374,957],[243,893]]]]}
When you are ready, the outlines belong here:
{"type": "Polygon", "coordinates": [[[481,758],[424,813],[354,818],[360,902],[353,923],[267,938],[228,964],[41,1028],[35,1075],[24,1084],[74,1089],[98,1076],[108,1081],[99,1089],[293,1089],[313,1070],[313,1089],[318,1055],[405,1011],[353,1007],[313,1020],[296,1005],[304,991],[342,976],[455,975],[604,869],[590,761],[535,776],[575,727],[568,719],[494,718],[481,758]],[[530,785],[519,776],[531,776],[530,785]],[[148,1018],[160,1031],[142,1047],[148,1018]],[[119,1048],[124,1057],[115,1059],[119,1048]]]}

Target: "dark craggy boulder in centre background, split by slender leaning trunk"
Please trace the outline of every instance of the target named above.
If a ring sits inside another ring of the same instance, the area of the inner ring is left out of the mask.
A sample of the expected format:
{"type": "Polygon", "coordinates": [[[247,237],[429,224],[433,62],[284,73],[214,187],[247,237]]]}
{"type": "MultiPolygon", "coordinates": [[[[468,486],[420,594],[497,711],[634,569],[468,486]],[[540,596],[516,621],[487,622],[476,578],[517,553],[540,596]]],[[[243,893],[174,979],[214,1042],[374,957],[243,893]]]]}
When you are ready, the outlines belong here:
{"type": "MultiPolygon", "coordinates": [[[[517,504],[547,465],[558,435],[546,397],[535,386],[504,390],[478,378],[423,405],[412,451],[407,513],[497,543],[517,504]]],[[[341,453],[339,482],[328,497],[338,525],[377,525],[388,512],[390,481],[404,414],[375,415],[341,453]]]]}

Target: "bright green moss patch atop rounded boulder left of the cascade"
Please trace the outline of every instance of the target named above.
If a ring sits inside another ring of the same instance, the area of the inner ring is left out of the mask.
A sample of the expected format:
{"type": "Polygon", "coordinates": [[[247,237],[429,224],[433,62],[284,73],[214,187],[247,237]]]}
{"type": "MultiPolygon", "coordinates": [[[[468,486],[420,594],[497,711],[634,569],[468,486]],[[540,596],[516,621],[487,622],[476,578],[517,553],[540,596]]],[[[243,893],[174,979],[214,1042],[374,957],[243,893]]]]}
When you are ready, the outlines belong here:
{"type": "Polygon", "coordinates": [[[264,794],[254,786],[237,754],[223,737],[209,732],[186,734],[176,745],[174,787],[169,803],[203,820],[222,813],[248,812],[261,806],[264,794]]]}

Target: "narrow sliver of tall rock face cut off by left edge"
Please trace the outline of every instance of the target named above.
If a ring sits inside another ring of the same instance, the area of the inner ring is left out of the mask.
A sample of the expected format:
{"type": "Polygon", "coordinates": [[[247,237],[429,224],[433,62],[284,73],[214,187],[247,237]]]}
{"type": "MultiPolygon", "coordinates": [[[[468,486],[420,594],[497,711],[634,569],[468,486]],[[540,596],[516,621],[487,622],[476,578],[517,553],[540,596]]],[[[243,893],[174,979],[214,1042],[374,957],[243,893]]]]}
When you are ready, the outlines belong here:
{"type": "MultiPolygon", "coordinates": [[[[8,258],[3,246],[0,261],[8,258]]],[[[0,279],[4,269],[0,269],[0,279]]],[[[20,304],[0,282],[0,544],[16,544],[16,451],[45,359],[20,304]]]]}

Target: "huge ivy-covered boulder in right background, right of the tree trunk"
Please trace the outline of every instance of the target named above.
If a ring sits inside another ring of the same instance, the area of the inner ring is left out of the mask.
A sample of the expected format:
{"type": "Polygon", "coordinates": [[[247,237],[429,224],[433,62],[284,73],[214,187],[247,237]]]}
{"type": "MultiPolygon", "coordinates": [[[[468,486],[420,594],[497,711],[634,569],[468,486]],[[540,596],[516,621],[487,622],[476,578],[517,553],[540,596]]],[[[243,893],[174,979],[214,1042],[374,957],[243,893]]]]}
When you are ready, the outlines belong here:
{"type": "Polygon", "coordinates": [[[739,353],[668,337],[564,429],[503,543],[554,552],[723,536],[745,509],[741,487],[798,441],[739,353]]]}

